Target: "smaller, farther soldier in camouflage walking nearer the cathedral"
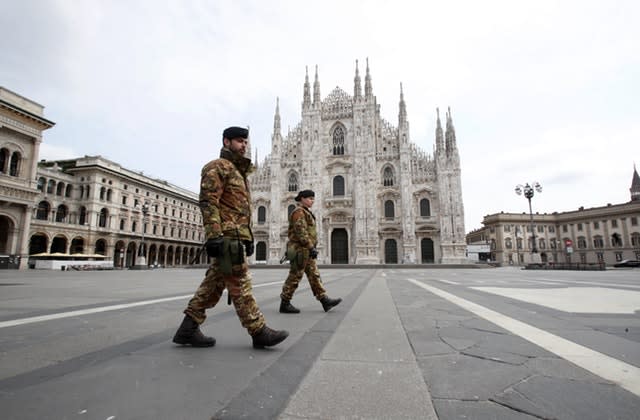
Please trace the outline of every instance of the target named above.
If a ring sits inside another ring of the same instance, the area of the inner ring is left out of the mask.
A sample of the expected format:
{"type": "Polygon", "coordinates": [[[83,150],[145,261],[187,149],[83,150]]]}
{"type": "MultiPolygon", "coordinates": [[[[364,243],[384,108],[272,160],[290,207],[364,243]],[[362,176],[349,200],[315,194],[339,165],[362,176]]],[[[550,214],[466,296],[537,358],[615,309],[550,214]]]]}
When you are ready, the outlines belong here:
{"type": "Polygon", "coordinates": [[[287,244],[287,257],[291,262],[289,276],[282,286],[280,293],[280,312],[285,314],[297,314],[300,309],[291,304],[293,294],[298,288],[302,274],[307,275],[311,285],[311,291],[322,308],[327,312],[342,299],[331,299],[322,286],[320,271],[316,264],[318,258],[318,233],[316,232],[316,217],[311,213],[311,206],[315,200],[315,193],[311,190],[303,190],[296,196],[298,207],[289,215],[289,243],[287,244]]]}

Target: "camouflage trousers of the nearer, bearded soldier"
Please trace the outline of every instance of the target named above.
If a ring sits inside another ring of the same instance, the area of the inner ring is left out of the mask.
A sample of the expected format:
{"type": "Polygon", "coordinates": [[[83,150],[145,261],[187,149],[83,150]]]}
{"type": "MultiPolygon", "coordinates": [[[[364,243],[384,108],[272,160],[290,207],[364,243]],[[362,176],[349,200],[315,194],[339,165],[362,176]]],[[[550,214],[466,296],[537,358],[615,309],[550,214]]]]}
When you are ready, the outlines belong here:
{"type": "Polygon", "coordinates": [[[266,321],[251,293],[251,273],[246,261],[243,264],[234,265],[231,275],[224,275],[214,259],[184,313],[198,324],[202,324],[207,318],[205,311],[216,306],[225,288],[228,290],[240,323],[247,329],[249,335],[254,335],[266,324],[266,321]]]}

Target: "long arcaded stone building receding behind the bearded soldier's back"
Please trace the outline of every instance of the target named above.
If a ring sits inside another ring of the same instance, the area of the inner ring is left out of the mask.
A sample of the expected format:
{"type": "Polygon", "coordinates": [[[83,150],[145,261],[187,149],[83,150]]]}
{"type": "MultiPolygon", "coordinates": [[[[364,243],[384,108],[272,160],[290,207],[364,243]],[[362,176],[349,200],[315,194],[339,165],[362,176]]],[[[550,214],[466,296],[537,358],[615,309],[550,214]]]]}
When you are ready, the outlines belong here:
{"type": "Polygon", "coordinates": [[[36,188],[29,255],[98,254],[118,268],[206,262],[196,193],[100,156],[41,161],[36,188]]]}

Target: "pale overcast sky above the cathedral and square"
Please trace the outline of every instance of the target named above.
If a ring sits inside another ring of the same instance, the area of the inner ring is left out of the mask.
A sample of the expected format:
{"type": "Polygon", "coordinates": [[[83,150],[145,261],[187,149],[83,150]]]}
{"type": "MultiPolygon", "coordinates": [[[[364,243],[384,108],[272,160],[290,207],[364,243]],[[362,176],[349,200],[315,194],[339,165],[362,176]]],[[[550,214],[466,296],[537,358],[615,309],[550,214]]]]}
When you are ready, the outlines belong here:
{"type": "Polygon", "coordinates": [[[41,159],[102,155],[196,192],[229,125],[270,151],[368,58],[381,114],[428,153],[451,107],[466,231],[527,212],[630,200],[640,166],[640,2],[0,0],[0,86],[56,123],[41,159]]]}

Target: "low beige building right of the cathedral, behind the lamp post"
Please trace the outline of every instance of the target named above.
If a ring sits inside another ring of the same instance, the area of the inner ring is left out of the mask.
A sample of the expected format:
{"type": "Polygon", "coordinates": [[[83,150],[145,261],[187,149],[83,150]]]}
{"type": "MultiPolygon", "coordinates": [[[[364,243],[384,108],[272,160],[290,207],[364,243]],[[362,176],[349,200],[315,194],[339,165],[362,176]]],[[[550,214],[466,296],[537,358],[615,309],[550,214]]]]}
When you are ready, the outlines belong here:
{"type": "Polygon", "coordinates": [[[640,177],[635,168],[630,192],[627,203],[533,214],[533,231],[527,213],[491,214],[484,217],[483,228],[467,235],[467,242],[489,244],[491,260],[501,264],[640,260],[640,177]],[[532,259],[534,236],[540,261],[532,259]]]}

